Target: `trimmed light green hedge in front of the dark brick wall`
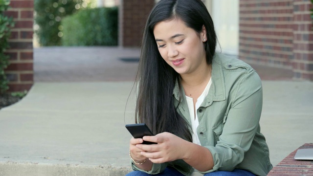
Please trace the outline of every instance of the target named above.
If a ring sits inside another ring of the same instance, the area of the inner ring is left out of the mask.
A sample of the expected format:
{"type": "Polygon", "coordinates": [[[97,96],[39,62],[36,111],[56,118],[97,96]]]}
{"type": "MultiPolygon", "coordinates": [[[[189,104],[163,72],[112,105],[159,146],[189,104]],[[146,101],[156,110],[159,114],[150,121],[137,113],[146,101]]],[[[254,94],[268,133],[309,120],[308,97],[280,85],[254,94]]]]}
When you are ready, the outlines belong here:
{"type": "Polygon", "coordinates": [[[118,8],[86,9],[62,20],[64,45],[117,45],[118,8]]]}

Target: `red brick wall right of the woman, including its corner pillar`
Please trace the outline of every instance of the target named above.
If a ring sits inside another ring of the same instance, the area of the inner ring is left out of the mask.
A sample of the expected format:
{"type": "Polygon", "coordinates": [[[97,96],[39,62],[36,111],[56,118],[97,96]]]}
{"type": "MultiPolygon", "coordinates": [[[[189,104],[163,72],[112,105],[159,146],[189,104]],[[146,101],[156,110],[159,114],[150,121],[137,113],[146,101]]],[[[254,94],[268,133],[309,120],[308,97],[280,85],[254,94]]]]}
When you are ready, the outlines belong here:
{"type": "Polygon", "coordinates": [[[313,80],[310,0],[240,0],[239,57],[313,80]]]}

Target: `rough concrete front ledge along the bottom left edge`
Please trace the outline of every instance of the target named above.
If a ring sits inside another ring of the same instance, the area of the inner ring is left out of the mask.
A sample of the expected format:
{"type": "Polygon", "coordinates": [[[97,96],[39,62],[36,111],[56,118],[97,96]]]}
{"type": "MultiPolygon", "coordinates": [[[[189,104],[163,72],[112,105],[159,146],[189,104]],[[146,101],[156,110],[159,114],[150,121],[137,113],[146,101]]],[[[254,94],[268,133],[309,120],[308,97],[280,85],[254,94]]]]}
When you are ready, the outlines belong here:
{"type": "Polygon", "coordinates": [[[131,167],[0,162],[0,176],[125,176],[131,167]]]}

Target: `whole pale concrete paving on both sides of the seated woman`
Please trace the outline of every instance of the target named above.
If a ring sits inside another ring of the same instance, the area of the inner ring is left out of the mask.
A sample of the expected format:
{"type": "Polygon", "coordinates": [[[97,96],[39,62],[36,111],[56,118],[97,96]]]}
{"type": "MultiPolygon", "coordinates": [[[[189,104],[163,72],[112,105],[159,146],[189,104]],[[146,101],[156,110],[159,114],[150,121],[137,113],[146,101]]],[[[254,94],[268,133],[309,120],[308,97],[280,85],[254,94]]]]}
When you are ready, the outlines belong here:
{"type": "MultiPolygon", "coordinates": [[[[139,50],[47,47],[34,54],[34,86],[0,110],[0,176],[129,172],[131,135],[124,126],[134,121],[137,63],[120,58],[132,61],[139,50]]],[[[313,82],[294,81],[286,69],[252,66],[263,80],[261,132],[276,165],[313,142],[313,82]]]]}

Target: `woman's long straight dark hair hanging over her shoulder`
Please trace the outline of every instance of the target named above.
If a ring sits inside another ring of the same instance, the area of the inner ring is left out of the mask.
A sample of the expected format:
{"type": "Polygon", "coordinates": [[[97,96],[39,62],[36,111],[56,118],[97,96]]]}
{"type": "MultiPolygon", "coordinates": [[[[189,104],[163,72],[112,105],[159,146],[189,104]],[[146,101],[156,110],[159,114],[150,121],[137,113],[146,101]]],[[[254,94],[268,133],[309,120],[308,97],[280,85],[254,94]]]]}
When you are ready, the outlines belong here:
{"type": "MultiPolygon", "coordinates": [[[[200,34],[206,28],[204,43],[207,64],[212,63],[216,48],[216,33],[212,18],[201,0],[160,0],[147,20],[137,72],[136,123],[146,123],[155,133],[171,132],[192,141],[190,127],[177,112],[173,102],[173,89],[180,83],[179,74],[161,57],[154,27],[158,22],[180,19],[200,34]]],[[[180,84],[179,84],[180,85],[180,84]]],[[[181,94],[181,93],[180,93],[181,94]]]]}

